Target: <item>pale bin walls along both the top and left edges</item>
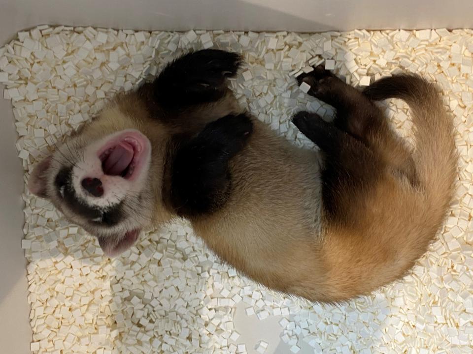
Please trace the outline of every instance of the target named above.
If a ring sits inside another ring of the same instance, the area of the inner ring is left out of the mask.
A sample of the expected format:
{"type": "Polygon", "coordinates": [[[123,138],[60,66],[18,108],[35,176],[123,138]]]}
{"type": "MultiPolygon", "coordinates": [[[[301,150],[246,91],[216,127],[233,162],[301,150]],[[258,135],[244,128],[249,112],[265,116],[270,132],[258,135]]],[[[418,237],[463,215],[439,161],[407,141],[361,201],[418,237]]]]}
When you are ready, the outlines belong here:
{"type": "MultiPolygon", "coordinates": [[[[473,0],[0,0],[0,45],[40,24],[133,29],[322,31],[473,28],[473,0]],[[455,4],[453,5],[452,2],[455,4]]],[[[2,88],[0,87],[0,93],[2,88]]],[[[0,99],[0,352],[29,353],[23,174],[10,103],[0,99]]]]}

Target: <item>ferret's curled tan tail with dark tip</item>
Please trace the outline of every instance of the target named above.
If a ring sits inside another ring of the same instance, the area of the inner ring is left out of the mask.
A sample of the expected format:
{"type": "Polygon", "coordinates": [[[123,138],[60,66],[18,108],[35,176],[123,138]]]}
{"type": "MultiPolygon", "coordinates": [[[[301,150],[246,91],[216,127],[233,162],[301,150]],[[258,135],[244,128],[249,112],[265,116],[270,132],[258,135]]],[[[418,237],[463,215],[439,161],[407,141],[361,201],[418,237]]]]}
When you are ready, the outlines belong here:
{"type": "Polygon", "coordinates": [[[449,207],[453,195],[458,156],[453,118],[444,107],[436,85],[418,75],[395,75],[365,89],[372,100],[400,98],[412,110],[416,150],[416,177],[430,205],[439,215],[449,207]]]}

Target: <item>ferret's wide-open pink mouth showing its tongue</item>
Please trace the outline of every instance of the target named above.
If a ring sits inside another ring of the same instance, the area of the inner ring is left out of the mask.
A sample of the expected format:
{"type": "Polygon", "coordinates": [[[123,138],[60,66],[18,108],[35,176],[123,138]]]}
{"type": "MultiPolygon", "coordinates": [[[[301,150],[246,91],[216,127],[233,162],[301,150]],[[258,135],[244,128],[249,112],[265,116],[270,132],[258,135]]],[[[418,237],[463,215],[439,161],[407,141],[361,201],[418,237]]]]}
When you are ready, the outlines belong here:
{"type": "Polygon", "coordinates": [[[103,173],[133,180],[144,165],[147,145],[139,132],[126,132],[107,142],[98,152],[103,173]]]}

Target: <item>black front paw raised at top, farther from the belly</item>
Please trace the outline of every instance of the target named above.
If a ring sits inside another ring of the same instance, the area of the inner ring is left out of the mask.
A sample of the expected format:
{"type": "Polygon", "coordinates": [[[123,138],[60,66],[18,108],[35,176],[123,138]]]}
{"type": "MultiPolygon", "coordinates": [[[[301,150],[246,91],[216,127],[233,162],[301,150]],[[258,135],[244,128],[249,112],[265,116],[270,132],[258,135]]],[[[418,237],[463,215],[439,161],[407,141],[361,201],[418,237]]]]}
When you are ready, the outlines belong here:
{"type": "Polygon", "coordinates": [[[241,64],[236,53],[205,49],[169,63],[153,82],[154,99],[163,108],[215,102],[227,91],[226,79],[241,64]]]}

